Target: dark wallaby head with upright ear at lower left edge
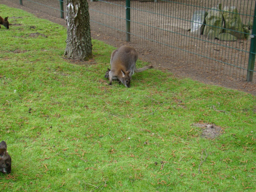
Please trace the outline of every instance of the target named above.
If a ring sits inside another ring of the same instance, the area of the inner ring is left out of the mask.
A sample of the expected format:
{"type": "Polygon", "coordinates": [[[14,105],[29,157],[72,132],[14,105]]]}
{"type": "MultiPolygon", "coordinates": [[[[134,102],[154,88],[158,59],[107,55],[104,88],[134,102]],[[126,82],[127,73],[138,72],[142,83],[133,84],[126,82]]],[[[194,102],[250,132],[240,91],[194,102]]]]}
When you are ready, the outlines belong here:
{"type": "Polygon", "coordinates": [[[7,145],[5,141],[0,143],[0,172],[11,173],[12,172],[12,159],[7,153],[7,145]]]}

